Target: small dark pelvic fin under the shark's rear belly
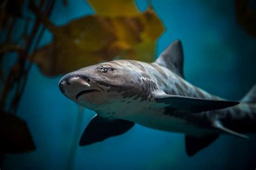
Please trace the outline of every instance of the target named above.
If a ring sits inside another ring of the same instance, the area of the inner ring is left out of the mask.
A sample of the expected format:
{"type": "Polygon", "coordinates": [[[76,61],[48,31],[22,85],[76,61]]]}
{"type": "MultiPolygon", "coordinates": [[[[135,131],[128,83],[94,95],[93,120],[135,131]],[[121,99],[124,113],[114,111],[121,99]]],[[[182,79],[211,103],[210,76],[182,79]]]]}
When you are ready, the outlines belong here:
{"type": "Polygon", "coordinates": [[[185,136],[185,143],[186,143],[186,152],[188,156],[193,156],[201,149],[205,148],[206,146],[210,145],[215,139],[219,137],[219,134],[211,134],[204,137],[192,137],[192,136],[185,136]]]}

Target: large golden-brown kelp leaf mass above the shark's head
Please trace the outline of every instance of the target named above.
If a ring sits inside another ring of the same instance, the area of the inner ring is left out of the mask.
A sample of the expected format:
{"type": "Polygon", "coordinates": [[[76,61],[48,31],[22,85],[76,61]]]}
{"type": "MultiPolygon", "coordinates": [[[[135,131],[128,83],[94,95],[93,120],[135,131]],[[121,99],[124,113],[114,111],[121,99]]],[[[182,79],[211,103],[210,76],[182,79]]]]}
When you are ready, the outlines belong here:
{"type": "MultiPolygon", "coordinates": [[[[90,3],[96,12],[101,11],[98,1],[90,3]]],[[[133,1],[116,1],[111,7],[114,12],[109,10],[64,26],[49,24],[41,16],[53,33],[53,42],[34,54],[41,71],[54,76],[113,59],[153,61],[156,40],[164,31],[153,9],[140,13],[133,1]]]]}

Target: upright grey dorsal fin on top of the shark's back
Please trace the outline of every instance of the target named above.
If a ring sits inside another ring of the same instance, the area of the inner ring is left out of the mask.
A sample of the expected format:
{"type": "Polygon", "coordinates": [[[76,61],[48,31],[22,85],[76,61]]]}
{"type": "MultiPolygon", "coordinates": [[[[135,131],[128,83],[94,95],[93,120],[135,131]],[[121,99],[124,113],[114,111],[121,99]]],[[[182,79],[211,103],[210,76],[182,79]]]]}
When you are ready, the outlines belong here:
{"type": "Polygon", "coordinates": [[[156,62],[166,67],[172,72],[184,78],[183,74],[183,48],[180,40],[173,41],[163,53],[161,53],[156,62]]]}

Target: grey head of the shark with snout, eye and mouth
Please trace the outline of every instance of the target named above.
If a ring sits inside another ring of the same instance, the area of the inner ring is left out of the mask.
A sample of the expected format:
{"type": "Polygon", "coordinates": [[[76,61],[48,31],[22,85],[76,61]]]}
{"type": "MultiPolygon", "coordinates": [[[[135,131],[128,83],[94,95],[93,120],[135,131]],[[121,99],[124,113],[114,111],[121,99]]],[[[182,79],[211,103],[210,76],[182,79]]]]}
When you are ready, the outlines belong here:
{"type": "Polygon", "coordinates": [[[72,101],[92,109],[101,104],[144,94],[143,82],[122,60],[100,63],[66,74],[59,81],[59,89],[72,101]],[[129,91],[129,93],[128,93],[129,91]]]}

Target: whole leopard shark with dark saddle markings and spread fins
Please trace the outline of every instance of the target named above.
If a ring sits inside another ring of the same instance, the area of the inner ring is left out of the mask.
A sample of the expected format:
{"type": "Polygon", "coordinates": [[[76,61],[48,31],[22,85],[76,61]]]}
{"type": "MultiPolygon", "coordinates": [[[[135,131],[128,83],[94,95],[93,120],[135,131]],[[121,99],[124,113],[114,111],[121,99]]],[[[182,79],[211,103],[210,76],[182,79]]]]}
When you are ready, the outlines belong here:
{"type": "Polygon", "coordinates": [[[185,134],[188,156],[220,134],[248,139],[256,132],[256,85],[240,101],[228,101],[187,82],[183,47],[173,41],[156,61],[113,60],[66,74],[60,91],[96,115],[79,145],[129,131],[134,124],[185,134]]]}

